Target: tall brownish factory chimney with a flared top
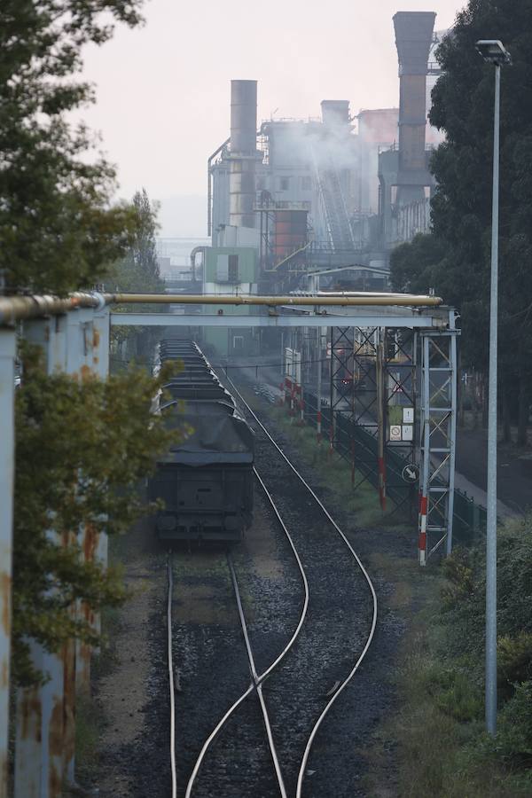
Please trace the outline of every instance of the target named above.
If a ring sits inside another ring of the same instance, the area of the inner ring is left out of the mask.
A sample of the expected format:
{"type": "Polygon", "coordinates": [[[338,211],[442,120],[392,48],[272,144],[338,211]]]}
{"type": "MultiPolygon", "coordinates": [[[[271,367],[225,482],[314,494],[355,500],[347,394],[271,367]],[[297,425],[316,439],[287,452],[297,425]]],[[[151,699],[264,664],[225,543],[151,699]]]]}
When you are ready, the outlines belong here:
{"type": "Polygon", "coordinates": [[[397,12],[395,44],[399,58],[399,174],[397,204],[425,197],[426,70],[433,39],[434,12],[397,12]]]}

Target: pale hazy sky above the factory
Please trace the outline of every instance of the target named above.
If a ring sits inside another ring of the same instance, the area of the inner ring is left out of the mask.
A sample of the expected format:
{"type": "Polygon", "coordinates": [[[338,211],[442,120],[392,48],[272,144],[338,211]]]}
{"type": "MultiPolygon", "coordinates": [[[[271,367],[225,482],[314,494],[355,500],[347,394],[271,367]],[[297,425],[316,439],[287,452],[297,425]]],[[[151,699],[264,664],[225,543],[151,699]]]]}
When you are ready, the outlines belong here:
{"type": "Polygon", "coordinates": [[[348,99],[352,113],[396,106],[392,16],[435,11],[442,29],[464,4],[150,0],[144,27],[87,49],[98,102],[82,117],[118,165],[121,196],[205,194],[207,157],[229,136],[231,78],[259,82],[259,121],[318,116],[322,99],[348,99]]]}

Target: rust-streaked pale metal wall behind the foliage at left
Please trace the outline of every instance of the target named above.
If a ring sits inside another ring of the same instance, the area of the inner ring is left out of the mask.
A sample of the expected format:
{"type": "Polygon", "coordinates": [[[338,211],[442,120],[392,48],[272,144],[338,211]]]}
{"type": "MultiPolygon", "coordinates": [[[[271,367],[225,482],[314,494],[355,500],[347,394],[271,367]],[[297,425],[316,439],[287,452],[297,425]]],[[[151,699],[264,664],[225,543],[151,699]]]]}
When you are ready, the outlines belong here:
{"type": "MultiPolygon", "coordinates": [[[[0,331],[4,332],[4,331],[0,331]]],[[[23,335],[43,349],[46,371],[66,372],[77,379],[97,374],[105,379],[109,364],[109,310],[102,300],[96,308],[80,308],[64,316],[27,321],[23,335]]],[[[56,533],[49,533],[56,539],[56,533]]],[[[94,528],[72,530],[59,543],[78,543],[86,559],[106,563],[106,536],[94,528]]],[[[89,607],[77,604],[99,628],[89,607]]],[[[47,674],[46,684],[20,689],[16,705],[14,798],[59,798],[61,787],[74,783],[75,697],[90,690],[90,648],[69,641],[57,653],[31,644],[35,668],[47,674]]],[[[1,792],[0,798],[4,794],[1,792]]]]}

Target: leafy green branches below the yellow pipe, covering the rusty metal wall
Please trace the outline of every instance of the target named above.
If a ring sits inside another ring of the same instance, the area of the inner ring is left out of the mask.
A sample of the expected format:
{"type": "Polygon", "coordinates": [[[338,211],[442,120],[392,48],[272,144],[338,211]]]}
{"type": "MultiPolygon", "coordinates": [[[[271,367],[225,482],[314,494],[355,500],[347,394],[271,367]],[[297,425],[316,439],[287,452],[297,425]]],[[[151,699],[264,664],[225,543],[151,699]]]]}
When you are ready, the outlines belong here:
{"type": "Polygon", "coordinates": [[[71,607],[113,606],[124,590],[113,569],[83,556],[78,531],[124,532],[150,508],[138,481],[155,454],[183,437],[151,412],[153,395],[168,381],[131,370],[105,382],[88,376],[47,376],[35,350],[24,356],[16,401],[13,553],[13,671],[19,684],[41,677],[32,669],[27,638],[58,651],[69,638],[95,642],[94,631],[71,607]],[[52,531],[53,530],[53,531],[52,531]]]}

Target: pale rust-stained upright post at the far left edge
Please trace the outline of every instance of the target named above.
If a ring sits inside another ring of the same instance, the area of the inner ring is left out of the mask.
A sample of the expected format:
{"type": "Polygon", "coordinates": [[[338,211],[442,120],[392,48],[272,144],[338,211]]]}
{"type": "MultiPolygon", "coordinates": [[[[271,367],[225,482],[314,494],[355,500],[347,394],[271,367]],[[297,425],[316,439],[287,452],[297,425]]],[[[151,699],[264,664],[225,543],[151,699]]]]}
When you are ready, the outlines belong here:
{"type": "Polygon", "coordinates": [[[7,798],[12,534],[15,471],[15,331],[0,328],[0,798],[7,798]]]}

